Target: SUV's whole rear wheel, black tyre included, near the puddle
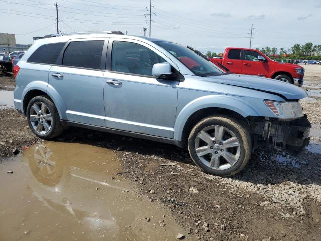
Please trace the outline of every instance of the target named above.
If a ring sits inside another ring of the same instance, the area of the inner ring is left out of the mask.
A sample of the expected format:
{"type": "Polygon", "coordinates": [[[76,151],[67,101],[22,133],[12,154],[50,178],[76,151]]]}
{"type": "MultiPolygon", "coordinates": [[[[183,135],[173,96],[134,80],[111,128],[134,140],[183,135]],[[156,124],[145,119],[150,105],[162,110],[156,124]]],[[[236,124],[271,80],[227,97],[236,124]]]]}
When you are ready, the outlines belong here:
{"type": "Polygon", "coordinates": [[[26,116],[30,130],[39,138],[51,139],[64,130],[56,106],[46,96],[32,98],[26,116]]]}

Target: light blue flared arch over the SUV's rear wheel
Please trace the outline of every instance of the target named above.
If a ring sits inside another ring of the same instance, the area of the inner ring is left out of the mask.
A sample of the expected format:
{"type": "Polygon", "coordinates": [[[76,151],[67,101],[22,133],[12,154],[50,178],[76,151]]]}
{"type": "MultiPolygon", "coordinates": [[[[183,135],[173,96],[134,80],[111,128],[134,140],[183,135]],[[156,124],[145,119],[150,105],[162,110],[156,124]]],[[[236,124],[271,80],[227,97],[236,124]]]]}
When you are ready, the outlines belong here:
{"type": "Polygon", "coordinates": [[[26,95],[32,91],[32,90],[40,90],[44,93],[46,93],[54,102],[57,111],[59,113],[60,119],[67,119],[66,118],[66,108],[65,105],[60,97],[60,95],[58,94],[58,92],[51,86],[49,85],[47,82],[44,81],[33,81],[30,82],[25,89],[22,92],[22,106],[24,106],[24,100],[26,95]]]}

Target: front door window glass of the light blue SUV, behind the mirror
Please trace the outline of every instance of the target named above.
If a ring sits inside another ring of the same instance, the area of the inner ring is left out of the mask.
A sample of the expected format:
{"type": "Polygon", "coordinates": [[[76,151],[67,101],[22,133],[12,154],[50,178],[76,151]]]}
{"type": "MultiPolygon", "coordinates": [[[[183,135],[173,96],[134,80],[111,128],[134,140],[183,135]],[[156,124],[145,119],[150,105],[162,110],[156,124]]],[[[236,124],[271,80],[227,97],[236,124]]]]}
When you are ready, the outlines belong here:
{"type": "Polygon", "coordinates": [[[123,41],[113,42],[112,71],[152,76],[152,66],[164,62],[167,61],[140,44],[123,41]]]}

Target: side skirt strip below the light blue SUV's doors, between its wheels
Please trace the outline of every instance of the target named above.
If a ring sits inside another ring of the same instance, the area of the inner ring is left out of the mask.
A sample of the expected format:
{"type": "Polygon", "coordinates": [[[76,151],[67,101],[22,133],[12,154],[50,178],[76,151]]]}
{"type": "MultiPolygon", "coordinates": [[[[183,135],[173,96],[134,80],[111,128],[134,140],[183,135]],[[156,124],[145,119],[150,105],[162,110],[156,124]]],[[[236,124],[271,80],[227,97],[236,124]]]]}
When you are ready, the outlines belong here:
{"type": "Polygon", "coordinates": [[[61,124],[64,127],[70,127],[70,126],[81,127],[81,128],[87,128],[87,129],[92,129],[92,130],[96,130],[96,131],[109,132],[109,133],[113,133],[113,134],[119,134],[119,135],[124,135],[124,136],[129,136],[129,137],[141,138],[141,139],[151,140],[151,141],[155,141],[155,142],[163,142],[163,143],[174,144],[174,145],[180,146],[180,142],[178,142],[174,139],[171,139],[171,138],[166,138],[166,137],[158,137],[158,136],[152,136],[152,135],[148,135],[148,134],[128,132],[128,131],[112,129],[112,128],[108,128],[108,127],[94,126],[94,125],[90,125],[90,124],[83,124],[83,123],[72,122],[72,121],[61,120],[61,124]]]}

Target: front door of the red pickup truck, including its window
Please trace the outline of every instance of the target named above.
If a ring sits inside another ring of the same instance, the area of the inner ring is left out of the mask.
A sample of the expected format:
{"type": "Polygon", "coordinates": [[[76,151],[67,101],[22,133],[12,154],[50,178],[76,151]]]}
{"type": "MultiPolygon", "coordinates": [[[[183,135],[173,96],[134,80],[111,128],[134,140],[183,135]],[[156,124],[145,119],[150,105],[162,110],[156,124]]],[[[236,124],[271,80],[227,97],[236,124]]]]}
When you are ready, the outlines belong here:
{"type": "Polygon", "coordinates": [[[242,53],[242,74],[258,75],[266,77],[269,75],[268,60],[259,61],[259,52],[243,50],[242,53]]]}

